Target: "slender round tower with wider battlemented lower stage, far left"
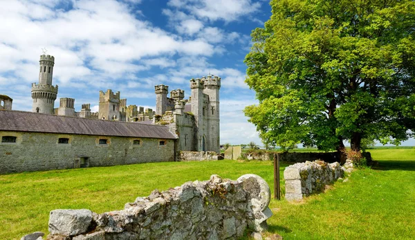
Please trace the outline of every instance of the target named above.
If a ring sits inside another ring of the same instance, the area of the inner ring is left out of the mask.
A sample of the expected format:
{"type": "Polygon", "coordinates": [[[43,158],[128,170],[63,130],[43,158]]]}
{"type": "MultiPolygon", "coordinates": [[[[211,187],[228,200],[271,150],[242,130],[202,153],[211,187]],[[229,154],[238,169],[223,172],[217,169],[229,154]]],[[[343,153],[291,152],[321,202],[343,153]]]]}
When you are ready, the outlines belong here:
{"type": "Polygon", "coordinates": [[[55,58],[50,55],[40,55],[39,64],[39,84],[32,83],[32,111],[53,114],[57,96],[57,86],[52,86],[55,58]]]}

